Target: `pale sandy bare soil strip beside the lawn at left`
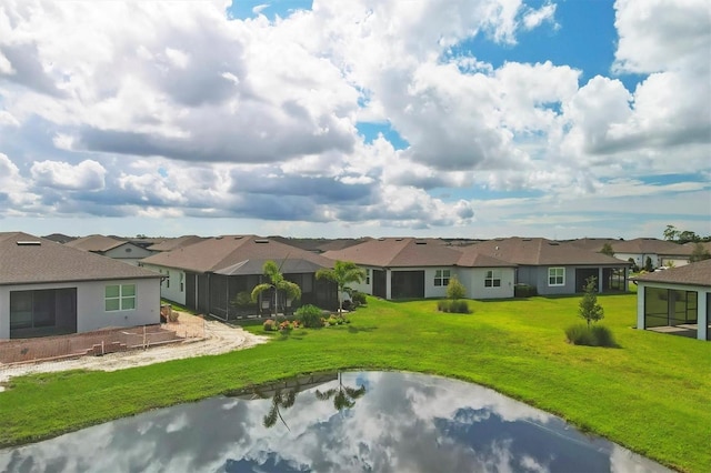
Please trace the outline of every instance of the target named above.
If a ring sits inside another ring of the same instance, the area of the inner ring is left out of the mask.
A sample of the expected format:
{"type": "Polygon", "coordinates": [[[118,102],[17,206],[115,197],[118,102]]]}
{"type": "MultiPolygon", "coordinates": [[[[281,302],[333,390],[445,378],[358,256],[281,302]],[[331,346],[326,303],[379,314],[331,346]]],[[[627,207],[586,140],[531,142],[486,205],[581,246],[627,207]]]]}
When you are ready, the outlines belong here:
{"type": "MultiPolygon", "coordinates": [[[[269,340],[267,336],[251,334],[239,326],[228,325],[217,321],[204,321],[187,314],[180,314],[180,321],[186,325],[202,325],[204,323],[204,339],[172,343],[148,350],[111,353],[104,356],[82,356],[73,360],[28,363],[14,366],[3,366],[0,363],[0,391],[12,376],[30,373],[53,373],[67,370],[117,371],[128,368],[143,366],[170,360],[179,360],[202,355],[214,355],[243,350],[269,340]]],[[[202,330],[200,330],[202,332],[202,330]]]]}

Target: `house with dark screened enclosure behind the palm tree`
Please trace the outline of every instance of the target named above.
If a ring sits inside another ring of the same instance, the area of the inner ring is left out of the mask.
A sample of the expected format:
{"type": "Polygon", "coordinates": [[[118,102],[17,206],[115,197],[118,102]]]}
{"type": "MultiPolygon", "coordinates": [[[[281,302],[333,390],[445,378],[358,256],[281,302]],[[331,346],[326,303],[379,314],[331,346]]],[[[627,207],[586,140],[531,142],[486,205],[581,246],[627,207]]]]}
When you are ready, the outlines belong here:
{"type": "MultiPolygon", "coordinates": [[[[301,288],[301,301],[278,301],[280,310],[297,304],[314,304],[322,309],[338,306],[337,286],[316,279],[320,269],[332,268],[321,255],[300,250],[272,239],[256,235],[223,235],[154,254],[141,265],[161,272],[164,281],[161,295],[191,310],[223,320],[246,315],[233,304],[239,293],[251,293],[261,282],[267,261],[274,261],[284,278],[301,288]]],[[[270,312],[273,294],[263,294],[257,309],[270,312]]]]}

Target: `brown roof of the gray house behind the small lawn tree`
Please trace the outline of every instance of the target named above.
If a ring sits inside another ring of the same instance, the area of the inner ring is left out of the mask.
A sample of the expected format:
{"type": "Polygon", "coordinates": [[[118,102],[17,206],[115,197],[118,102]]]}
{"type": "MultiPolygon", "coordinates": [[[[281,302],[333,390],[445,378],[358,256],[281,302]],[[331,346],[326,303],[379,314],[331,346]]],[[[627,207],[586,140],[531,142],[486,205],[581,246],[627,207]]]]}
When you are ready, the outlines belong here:
{"type": "Polygon", "coordinates": [[[477,243],[472,248],[481,254],[530,266],[571,264],[620,266],[630,264],[617,258],[544,238],[495,239],[477,243]]]}

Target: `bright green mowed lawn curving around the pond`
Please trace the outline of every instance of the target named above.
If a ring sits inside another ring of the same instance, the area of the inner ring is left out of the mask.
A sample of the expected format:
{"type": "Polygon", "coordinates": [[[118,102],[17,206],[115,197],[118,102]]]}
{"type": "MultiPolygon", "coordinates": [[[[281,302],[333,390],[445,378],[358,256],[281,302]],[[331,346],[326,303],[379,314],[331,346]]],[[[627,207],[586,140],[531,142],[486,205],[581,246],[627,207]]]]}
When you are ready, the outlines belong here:
{"type": "MultiPolygon", "coordinates": [[[[387,302],[350,325],[274,334],[253,349],[126,371],[12,380],[0,393],[0,444],[77,430],[248,384],[334,369],[437,373],[491,386],[681,471],[711,470],[711,343],[631,329],[634,294],[601,295],[619,349],[575,346],[580,298],[387,302]]],[[[248,330],[262,334],[261,325],[248,330]]]]}

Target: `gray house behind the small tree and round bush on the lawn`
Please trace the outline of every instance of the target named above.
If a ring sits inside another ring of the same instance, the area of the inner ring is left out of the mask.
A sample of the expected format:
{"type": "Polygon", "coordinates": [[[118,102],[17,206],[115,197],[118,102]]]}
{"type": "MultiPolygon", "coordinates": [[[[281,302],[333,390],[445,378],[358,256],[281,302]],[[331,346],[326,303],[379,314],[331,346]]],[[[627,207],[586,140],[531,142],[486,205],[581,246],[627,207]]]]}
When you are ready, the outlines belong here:
{"type": "Polygon", "coordinates": [[[515,283],[541,295],[575,294],[590,276],[599,292],[625,291],[630,263],[543,238],[507,238],[472,245],[474,251],[514,263],[515,283]]]}

